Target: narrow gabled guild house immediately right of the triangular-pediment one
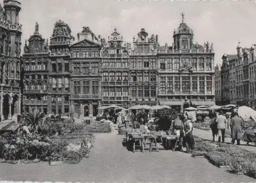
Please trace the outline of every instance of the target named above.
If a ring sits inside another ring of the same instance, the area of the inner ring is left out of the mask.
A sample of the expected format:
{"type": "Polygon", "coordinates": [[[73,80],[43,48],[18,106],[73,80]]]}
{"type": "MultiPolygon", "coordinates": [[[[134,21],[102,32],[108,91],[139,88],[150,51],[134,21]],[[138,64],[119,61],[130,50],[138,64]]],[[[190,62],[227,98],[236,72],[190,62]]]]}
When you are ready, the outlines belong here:
{"type": "Polygon", "coordinates": [[[124,108],[130,101],[129,52],[130,43],[124,43],[114,29],[102,47],[102,105],[116,103],[124,108]]]}

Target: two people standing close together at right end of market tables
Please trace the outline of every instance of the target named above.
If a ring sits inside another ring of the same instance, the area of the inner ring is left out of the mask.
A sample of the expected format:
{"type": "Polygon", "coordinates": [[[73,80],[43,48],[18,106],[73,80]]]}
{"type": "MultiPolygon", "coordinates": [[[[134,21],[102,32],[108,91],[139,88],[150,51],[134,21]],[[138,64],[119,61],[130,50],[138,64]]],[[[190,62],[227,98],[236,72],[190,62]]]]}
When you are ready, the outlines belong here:
{"type": "Polygon", "coordinates": [[[192,120],[193,117],[185,112],[182,115],[177,115],[172,126],[176,135],[179,136],[180,146],[185,145],[187,153],[195,149],[192,120]]]}

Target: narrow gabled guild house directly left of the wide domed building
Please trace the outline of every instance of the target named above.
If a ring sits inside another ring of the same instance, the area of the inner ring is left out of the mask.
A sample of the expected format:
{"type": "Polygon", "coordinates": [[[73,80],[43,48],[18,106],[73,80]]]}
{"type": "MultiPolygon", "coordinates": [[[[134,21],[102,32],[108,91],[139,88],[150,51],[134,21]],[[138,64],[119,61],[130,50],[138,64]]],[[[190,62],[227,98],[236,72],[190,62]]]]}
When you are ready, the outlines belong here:
{"type": "Polygon", "coordinates": [[[148,37],[141,29],[137,39],[133,39],[130,51],[130,104],[155,105],[157,100],[157,50],[158,35],[148,37]]]}

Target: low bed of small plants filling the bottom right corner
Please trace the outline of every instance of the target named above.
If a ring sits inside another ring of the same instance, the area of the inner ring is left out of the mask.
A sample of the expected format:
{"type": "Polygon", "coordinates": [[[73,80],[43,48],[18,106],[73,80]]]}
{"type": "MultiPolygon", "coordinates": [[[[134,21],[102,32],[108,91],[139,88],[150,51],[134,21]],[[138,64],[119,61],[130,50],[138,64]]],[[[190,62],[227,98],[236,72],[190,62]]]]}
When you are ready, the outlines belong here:
{"type": "Polygon", "coordinates": [[[236,174],[245,174],[256,178],[256,153],[244,150],[236,145],[214,144],[195,137],[196,148],[193,156],[205,152],[205,158],[218,167],[229,168],[236,174]]]}

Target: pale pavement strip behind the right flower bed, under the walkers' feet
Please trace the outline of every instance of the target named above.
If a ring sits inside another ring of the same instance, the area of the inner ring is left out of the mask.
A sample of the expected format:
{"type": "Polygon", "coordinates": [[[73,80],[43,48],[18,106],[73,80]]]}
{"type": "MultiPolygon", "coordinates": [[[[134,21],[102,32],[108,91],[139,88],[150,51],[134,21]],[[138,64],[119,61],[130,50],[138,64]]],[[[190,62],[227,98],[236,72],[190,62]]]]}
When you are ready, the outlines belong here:
{"type": "MultiPolygon", "coordinates": [[[[201,137],[205,140],[212,140],[211,131],[198,129],[198,128],[193,128],[193,135],[201,137]]],[[[231,138],[225,138],[225,142],[226,143],[231,143],[231,138]]],[[[254,146],[254,143],[250,143],[250,145],[248,145],[248,146],[246,145],[245,141],[241,141],[240,143],[241,143],[241,145],[239,147],[241,147],[243,149],[246,149],[246,150],[256,152],[256,147],[254,146]]]]}

